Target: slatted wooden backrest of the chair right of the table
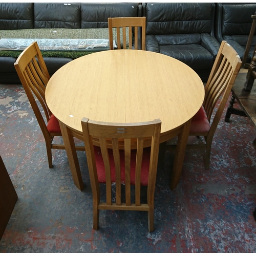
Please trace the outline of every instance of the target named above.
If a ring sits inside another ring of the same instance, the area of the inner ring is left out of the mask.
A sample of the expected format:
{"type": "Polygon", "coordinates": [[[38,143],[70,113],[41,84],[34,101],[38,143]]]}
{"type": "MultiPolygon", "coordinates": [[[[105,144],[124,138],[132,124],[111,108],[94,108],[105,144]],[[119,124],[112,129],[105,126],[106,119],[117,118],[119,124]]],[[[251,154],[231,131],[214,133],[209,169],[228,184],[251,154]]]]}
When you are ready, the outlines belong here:
{"type": "Polygon", "coordinates": [[[205,97],[203,102],[205,112],[210,122],[212,112],[222,95],[220,105],[210,127],[210,131],[213,133],[219,123],[241,63],[242,61],[238,53],[226,41],[222,41],[214,66],[211,69],[211,73],[205,86],[205,97]]]}

